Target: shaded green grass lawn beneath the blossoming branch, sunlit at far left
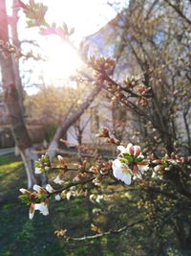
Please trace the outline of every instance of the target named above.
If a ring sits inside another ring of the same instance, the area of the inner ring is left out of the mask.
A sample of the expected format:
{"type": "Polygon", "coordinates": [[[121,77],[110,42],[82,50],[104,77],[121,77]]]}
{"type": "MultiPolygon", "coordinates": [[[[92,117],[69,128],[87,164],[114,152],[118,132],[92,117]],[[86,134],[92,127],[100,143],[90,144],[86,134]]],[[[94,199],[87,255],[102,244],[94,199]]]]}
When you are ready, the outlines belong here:
{"type": "Polygon", "coordinates": [[[91,223],[108,230],[134,221],[138,208],[131,199],[114,198],[108,204],[103,203],[103,207],[91,203],[88,198],[53,201],[49,216],[44,217],[36,212],[31,221],[28,217],[29,207],[18,199],[19,188],[27,186],[25,171],[18,157],[10,155],[0,158],[0,182],[0,256],[156,255],[153,253],[155,244],[151,235],[138,227],[120,236],[75,243],[54,235],[57,229],[67,229],[70,236],[80,237],[93,234],[91,223]],[[94,208],[96,211],[93,211],[94,208]]]}

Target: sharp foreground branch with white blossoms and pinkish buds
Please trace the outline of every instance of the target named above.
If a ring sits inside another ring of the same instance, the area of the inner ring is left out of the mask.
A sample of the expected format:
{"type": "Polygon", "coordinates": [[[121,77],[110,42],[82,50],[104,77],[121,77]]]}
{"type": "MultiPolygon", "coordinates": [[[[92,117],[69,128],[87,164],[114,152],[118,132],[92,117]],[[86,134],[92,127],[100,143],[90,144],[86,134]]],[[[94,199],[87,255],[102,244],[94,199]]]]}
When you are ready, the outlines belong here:
{"type": "MultiPolygon", "coordinates": [[[[110,138],[108,130],[104,129],[102,137],[110,138]]],[[[117,143],[116,143],[117,145],[117,143]]],[[[135,179],[142,179],[145,172],[151,171],[151,178],[162,178],[162,174],[171,170],[175,165],[180,164],[181,159],[172,159],[165,155],[161,159],[155,159],[154,157],[145,158],[141,149],[137,145],[129,143],[127,147],[120,145],[117,146],[117,159],[109,162],[97,162],[95,166],[91,166],[87,161],[84,161],[78,168],[77,175],[74,176],[73,181],[68,181],[65,178],[66,172],[69,170],[66,161],[61,155],[57,156],[58,165],[56,168],[59,170],[59,174],[53,179],[56,189],[53,189],[52,185],[47,184],[46,187],[39,185],[33,186],[33,191],[26,189],[20,189],[22,195],[20,198],[23,202],[30,205],[30,219],[33,218],[34,212],[38,210],[42,215],[47,216],[49,214],[48,205],[50,199],[54,197],[55,200],[61,198],[77,197],[88,194],[83,190],[77,190],[77,185],[91,183],[95,186],[100,186],[105,177],[110,177],[113,171],[113,175],[124,182],[126,185],[130,185],[135,179]],[[57,189],[57,186],[62,186],[57,189]],[[81,191],[81,192],[80,192],[81,191]]],[[[44,172],[53,170],[53,164],[49,160],[49,156],[46,153],[35,164],[35,173],[40,175],[44,172]]],[[[90,195],[90,200],[94,203],[99,203],[103,199],[103,195],[90,195]]]]}

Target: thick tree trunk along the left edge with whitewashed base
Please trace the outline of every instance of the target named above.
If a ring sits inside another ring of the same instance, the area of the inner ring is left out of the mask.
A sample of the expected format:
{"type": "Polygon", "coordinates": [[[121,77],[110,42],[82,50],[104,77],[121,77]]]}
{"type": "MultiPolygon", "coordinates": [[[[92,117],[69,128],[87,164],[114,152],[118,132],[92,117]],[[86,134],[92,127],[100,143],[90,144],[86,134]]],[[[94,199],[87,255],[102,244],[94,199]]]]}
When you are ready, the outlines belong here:
{"type": "MultiPolygon", "coordinates": [[[[8,16],[5,0],[0,1],[0,39],[5,43],[9,42],[8,16]]],[[[36,183],[33,172],[33,163],[34,160],[36,160],[37,155],[32,152],[32,141],[25,126],[21,105],[19,103],[19,93],[16,86],[11,55],[4,57],[4,55],[0,53],[0,65],[5,95],[4,101],[9,111],[11,132],[15,144],[21,152],[22,160],[27,172],[28,187],[31,188],[32,185],[36,183]]]]}

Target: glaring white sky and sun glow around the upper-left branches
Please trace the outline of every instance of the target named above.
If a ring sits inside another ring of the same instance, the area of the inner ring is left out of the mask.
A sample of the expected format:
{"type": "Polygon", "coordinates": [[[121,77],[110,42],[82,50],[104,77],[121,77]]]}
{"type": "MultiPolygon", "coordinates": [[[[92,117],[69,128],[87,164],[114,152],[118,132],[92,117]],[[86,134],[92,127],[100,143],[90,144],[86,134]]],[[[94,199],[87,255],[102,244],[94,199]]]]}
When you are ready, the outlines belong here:
{"type": "MultiPolygon", "coordinates": [[[[7,0],[8,4],[12,0],[7,0]]],[[[108,0],[35,0],[35,2],[42,2],[47,5],[49,10],[46,14],[46,19],[57,25],[62,25],[65,22],[69,28],[74,27],[75,32],[72,37],[75,43],[86,35],[96,33],[101,27],[114,18],[117,12],[113,7],[107,4],[108,0]]],[[[28,0],[23,0],[28,3],[28,0]]],[[[125,6],[128,0],[118,1],[118,8],[125,6]]],[[[25,63],[25,70],[32,69],[32,81],[38,81],[39,76],[44,78],[45,82],[64,81],[68,79],[74,70],[80,66],[80,60],[76,56],[73,49],[68,47],[58,37],[51,35],[42,38],[38,35],[36,29],[25,29],[24,17],[20,18],[20,39],[34,39],[36,40],[45,55],[49,58],[46,63],[33,63],[32,60],[25,63]],[[37,72],[37,73],[36,73],[37,72]],[[38,74],[38,75],[37,75],[38,74]]],[[[29,44],[25,45],[25,49],[30,49],[29,44]]],[[[26,61],[27,62],[27,61],[26,61]]],[[[34,83],[35,83],[34,81],[34,83]]],[[[28,93],[34,93],[33,88],[28,89],[28,93]]]]}

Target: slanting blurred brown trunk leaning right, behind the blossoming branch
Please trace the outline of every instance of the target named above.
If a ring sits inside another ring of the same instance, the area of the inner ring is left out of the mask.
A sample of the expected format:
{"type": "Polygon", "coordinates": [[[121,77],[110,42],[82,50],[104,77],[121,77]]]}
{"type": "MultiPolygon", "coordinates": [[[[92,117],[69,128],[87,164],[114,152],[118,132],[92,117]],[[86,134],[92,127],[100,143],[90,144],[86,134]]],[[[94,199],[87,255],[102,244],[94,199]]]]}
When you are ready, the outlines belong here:
{"type": "Polygon", "coordinates": [[[59,146],[59,140],[62,138],[62,136],[66,133],[68,128],[70,128],[74,122],[84,113],[84,111],[92,104],[94,101],[96,95],[100,92],[101,86],[96,86],[94,88],[87,99],[84,100],[84,102],[76,109],[74,112],[66,117],[64,116],[61,124],[59,127],[56,129],[55,134],[53,136],[53,141],[49,146],[48,153],[51,162],[53,161],[53,157],[55,156],[56,150],[58,149],[59,146]],[[66,118],[65,118],[66,117],[66,118]]]}

